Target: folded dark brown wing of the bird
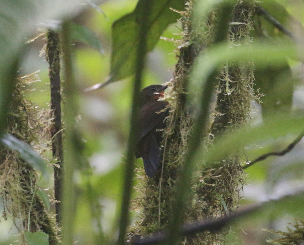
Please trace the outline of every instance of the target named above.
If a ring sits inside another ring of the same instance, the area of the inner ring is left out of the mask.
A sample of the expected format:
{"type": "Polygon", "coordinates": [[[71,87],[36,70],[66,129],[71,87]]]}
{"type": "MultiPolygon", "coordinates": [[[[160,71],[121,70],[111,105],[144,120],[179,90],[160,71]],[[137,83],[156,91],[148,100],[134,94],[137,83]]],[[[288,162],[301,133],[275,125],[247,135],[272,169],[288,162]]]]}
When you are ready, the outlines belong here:
{"type": "Polygon", "coordinates": [[[138,111],[138,131],[137,143],[153,128],[164,128],[164,119],[169,115],[168,110],[161,113],[158,111],[164,110],[168,102],[166,101],[150,101],[144,104],[138,111]]]}

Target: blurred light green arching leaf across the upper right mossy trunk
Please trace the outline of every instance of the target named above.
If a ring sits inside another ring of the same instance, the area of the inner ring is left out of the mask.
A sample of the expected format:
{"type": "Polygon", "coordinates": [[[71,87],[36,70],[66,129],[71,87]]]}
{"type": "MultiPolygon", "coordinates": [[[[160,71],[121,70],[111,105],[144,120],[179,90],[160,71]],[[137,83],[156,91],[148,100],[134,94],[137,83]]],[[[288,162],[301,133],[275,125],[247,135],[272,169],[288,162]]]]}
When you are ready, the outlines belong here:
{"type": "Polygon", "coordinates": [[[242,62],[254,62],[256,66],[280,65],[286,62],[286,57],[299,59],[299,54],[293,43],[270,43],[263,40],[255,40],[248,45],[230,47],[227,43],[221,43],[211,47],[205,53],[199,55],[195,61],[192,72],[193,91],[199,91],[202,83],[214,70],[220,68],[226,62],[238,64],[242,62]]]}

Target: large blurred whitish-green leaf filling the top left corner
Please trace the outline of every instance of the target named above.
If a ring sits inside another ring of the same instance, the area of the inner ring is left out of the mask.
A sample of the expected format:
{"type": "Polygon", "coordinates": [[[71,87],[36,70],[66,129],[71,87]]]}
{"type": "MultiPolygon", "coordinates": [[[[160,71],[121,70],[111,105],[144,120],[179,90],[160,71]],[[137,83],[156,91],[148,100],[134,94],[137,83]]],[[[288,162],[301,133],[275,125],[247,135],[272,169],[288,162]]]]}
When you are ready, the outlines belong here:
{"type": "Polygon", "coordinates": [[[85,6],[85,0],[0,0],[0,121],[5,122],[17,61],[24,54],[25,38],[46,19],[68,18],[85,6]]]}

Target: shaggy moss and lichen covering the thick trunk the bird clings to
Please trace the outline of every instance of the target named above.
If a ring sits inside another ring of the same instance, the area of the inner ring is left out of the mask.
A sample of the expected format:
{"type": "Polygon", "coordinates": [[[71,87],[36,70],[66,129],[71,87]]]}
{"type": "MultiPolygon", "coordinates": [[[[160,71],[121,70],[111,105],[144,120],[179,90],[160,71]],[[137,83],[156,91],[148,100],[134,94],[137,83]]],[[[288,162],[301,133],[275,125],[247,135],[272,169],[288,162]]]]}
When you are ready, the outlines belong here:
{"type": "MultiPolygon", "coordinates": [[[[162,178],[140,177],[141,186],[136,187],[140,191],[140,196],[133,202],[133,208],[141,212],[142,219],[136,222],[135,226],[130,227],[129,238],[164,230],[170,220],[178,171],[184,163],[188,140],[195,121],[188,102],[186,103],[186,94],[195,93],[188,91],[189,74],[199,52],[210,47],[214,42],[218,25],[217,16],[221,11],[216,7],[208,16],[194,19],[193,4],[192,1],[187,2],[185,11],[181,12],[183,39],[177,41],[178,63],[175,66],[174,79],[170,82],[173,91],[170,95],[171,111],[167,119],[168,128],[164,131],[163,175],[162,178]]],[[[239,1],[234,7],[229,30],[231,45],[249,43],[253,12],[254,1],[239,1]]],[[[233,68],[227,65],[221,69],[219,85],[216,89],[217,113],[210,126],[214,137],[223,134],[226,129],[238,128],[248,121],[250,101],[254,98],[253,71],[252,63],[240,64],[233,68]],[[220,115],[224,117],[221,118],[220,115]]],[[[208,138],[207,134],[206,138],[208,138]]],[[[209,142],[209,139],[206,142],[209,142]]],[[[208,144],[205,144],[207,147],[208,144]]],[[[200,164],[203,166],[203,163],[200,164]]],[[[201,167],[201,170],[195,173],[192,181],[192,200],[185,212],[186,221],[215,217],[236,210],[244,176],[239,157],[224,159],[219,165],[218,169],[201,167]]],[[[223,242],[222,239],[223,236],[219,233],[204,233],[186,237],[182,243],[220,244],[223,242]]]]}

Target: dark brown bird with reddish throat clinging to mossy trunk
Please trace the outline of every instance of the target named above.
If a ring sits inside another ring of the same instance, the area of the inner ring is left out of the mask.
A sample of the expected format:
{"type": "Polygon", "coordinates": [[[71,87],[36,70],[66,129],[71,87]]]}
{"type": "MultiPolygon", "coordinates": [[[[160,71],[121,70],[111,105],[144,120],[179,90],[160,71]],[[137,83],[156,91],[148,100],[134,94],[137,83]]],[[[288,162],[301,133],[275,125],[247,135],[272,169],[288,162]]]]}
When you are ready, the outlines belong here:
{"type": "Polygon", "coordinates": [[[166,127],[164,119],[169,115],[169,111],[157,113],[168,105],[167,101],[158,101],[158,99],[164,97],[164,90],[167,87],[150,85],[140,91],[135,156],[143,158],[143,165],[148,177],[154,177],[161,162],[160,143],[163,139],[163,132],[157,129],[166,127]]]}

